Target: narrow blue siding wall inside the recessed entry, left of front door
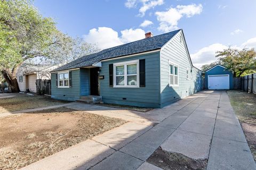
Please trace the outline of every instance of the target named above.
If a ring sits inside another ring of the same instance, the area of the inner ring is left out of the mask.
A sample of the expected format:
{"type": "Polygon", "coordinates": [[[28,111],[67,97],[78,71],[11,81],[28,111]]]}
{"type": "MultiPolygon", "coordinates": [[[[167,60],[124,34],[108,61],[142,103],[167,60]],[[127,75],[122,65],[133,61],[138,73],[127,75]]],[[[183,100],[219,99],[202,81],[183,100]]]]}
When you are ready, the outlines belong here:
{"type": "Polygon", "coordinates": [[[90,95],[90,69],[80,69],[81,96],[90,95]]]}

